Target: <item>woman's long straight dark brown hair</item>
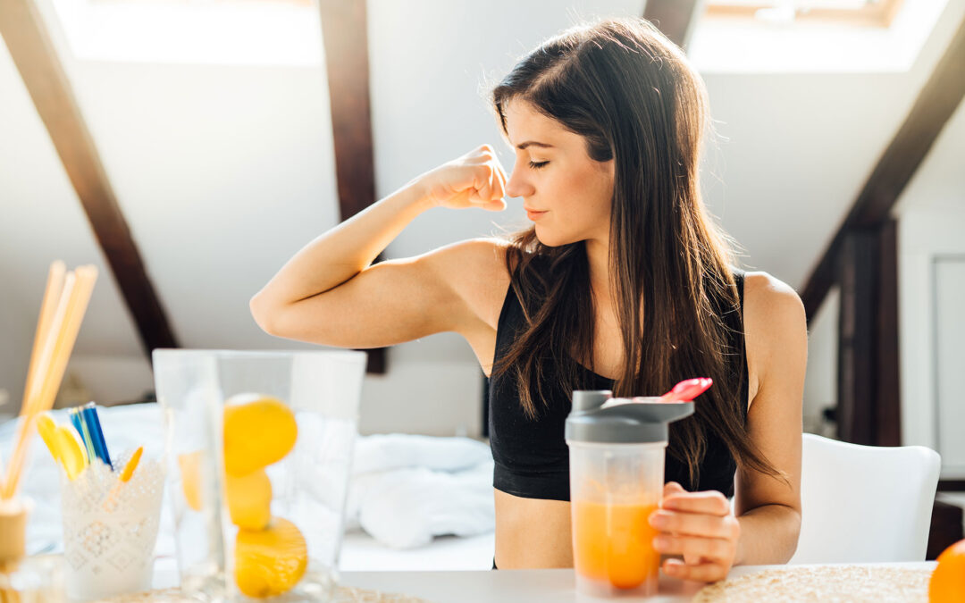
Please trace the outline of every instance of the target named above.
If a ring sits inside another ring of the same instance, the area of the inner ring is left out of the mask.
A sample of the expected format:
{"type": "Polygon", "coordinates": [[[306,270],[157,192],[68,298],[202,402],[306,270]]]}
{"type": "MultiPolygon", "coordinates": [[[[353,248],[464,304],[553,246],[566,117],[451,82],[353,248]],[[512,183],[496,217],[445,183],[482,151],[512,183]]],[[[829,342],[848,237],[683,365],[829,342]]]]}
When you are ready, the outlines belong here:
{"type": "MultiPolygon", "coordinates": [[[[671,425],[668,452],[687,466],[692,487],[710,432],[738,466],[780,475],[746,438],[731,241],[706,212],[699,186],[709,122],[700,75],[648,21],[612,19],[545,41],[510,71],[492,93],[507,134],[513,99],[582,135],[593,160],[615,161],[609,279],[624,361],[614,395],[654,396],[684,378],[712,377],[695,414],[671,425]]],[[[549,247],[534,228],[511,236],[506,261],[526,326],[493,374],[515,375],[520,403],[536,418],[538,402],[548,403],[547,370],[567,396],[587,387],[577,361],[593,370],[589,261],[583,241],[549,247]]]]}

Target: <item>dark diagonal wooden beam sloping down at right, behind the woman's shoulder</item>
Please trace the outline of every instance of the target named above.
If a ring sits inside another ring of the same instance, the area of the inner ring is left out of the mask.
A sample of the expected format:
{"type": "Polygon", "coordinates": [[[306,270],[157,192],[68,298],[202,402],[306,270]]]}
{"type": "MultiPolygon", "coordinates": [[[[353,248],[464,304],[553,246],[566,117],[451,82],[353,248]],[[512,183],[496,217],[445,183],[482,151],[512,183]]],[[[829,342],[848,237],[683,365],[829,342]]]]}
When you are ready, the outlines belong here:
{"type": "Polygon", "coordinates": [[[881,155],[831,243],[817,260],[801,292],[810,322],[835,284],[846,233],[888,219],[908,181],[965,96],[965,22],[919,93],[895,138],[881,155]]]}

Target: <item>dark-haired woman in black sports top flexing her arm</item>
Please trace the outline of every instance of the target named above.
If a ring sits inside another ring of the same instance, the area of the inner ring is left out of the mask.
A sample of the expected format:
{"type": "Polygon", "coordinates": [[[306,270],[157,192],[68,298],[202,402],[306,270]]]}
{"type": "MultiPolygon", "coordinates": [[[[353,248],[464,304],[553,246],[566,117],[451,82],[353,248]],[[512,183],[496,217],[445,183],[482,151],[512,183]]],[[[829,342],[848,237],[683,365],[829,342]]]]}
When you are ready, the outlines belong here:
{"type": "Polygon", "coordinates": [[[344,347],[466,339],[491,375],[502,568],[572,566],[572,390],[658,395],[713,377],[671,429],[650,517],[663,568],[710,582],[786,562],[800,528],[804,309],[777,279],[732,268],[705,212],[700,76],[647,21],[610,20],[543,43],[493,106],[511,177],[483,145],[413,179],[298,252],[252,299],[255,319],[344,347]],[[371,265],[421,212],[498,211],[504,196],[522,198],[532,228],[371,265]]]}

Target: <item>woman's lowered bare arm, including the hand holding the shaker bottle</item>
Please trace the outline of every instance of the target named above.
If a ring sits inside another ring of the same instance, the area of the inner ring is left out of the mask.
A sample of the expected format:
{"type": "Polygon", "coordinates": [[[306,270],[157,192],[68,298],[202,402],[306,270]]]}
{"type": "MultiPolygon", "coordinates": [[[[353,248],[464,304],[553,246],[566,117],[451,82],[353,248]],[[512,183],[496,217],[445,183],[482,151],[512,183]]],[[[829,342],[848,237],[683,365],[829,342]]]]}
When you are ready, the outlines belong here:
{"type": "Polygon", "coordinates": [[[808,361],[804,306],[793,289],[764,274],[745,281],[744,334],[758,391],[747,415],[747,435],[784,478],[738,470],[734,512],[716,490],[686,492],[664,486],[650,524],[654,545],[668,559],[664,571],[714,582],[736,564],[783,563],[801,528],[801,399],[808,361]],[[736,515],[736,516],[735,516],[736,515]]]}

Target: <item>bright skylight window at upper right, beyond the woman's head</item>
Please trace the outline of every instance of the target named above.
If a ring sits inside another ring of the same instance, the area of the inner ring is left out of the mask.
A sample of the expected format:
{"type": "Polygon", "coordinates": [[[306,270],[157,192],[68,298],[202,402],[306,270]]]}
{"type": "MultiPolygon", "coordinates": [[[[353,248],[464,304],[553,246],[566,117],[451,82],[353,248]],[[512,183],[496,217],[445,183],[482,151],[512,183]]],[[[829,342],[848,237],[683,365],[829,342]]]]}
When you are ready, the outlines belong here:
{"type": "Polygon", "coordinates": [[[687,51],[703,72],[896,72],[947,0],[707,0],[687,51]]]}

